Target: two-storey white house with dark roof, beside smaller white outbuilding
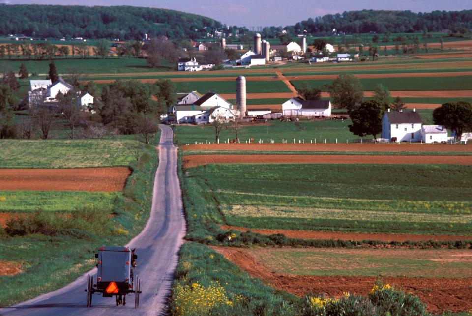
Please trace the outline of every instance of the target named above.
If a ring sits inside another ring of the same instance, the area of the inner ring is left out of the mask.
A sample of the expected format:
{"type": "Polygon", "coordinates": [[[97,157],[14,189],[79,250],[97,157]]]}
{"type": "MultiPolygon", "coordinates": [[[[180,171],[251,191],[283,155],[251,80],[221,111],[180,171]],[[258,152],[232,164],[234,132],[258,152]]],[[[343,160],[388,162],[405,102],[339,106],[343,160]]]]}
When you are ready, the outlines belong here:
{"type": "Polygon", "coordinates": [[[422,120],[416,109],[413,111],[390,111],[382,117],[382,138],[391,142],[419,142],[422,120]]]}

